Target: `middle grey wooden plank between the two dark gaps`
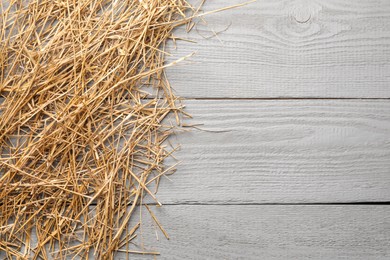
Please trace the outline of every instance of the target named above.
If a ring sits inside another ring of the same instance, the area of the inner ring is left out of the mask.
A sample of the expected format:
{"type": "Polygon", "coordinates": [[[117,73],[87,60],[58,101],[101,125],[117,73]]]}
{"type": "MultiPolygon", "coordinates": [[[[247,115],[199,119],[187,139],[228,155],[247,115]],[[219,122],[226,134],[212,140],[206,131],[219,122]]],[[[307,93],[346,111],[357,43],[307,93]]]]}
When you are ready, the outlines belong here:
{"type": "Polygon", "coordinates": [[[187,100],[164,204],[390,201],[390,102],[187,100]]]}

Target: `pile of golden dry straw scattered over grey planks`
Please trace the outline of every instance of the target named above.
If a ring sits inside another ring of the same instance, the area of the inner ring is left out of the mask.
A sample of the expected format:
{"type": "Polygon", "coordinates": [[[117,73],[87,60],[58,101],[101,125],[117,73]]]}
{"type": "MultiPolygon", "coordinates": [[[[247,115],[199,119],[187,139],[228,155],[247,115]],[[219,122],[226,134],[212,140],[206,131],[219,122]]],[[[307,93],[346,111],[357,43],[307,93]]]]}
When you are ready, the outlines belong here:
{"type": "Polygon", "coordinates": [[[164,50],[196,9],[184,0],[0,3],[0,251],[113,259],[136,237],[145,196],[161,205],[150,185],[174,170],[163,164],[174,127],[164,119],[177,124],[182,106],[164,50]]]}

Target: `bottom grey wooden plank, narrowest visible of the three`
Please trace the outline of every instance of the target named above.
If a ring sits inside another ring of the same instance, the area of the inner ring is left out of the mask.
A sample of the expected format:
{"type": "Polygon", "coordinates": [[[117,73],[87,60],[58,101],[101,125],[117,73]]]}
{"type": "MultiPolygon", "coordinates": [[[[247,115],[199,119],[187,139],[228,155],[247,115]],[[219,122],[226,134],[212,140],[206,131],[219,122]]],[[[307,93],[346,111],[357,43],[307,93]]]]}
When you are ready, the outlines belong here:
{"type": "Polygon", "coordinates": [[[145,213],[138,243],[159,251],[157,259],[390,258],[389,205],[177,205],[155,211],[171,240],[156,230],[156,241],[145,213]]]}

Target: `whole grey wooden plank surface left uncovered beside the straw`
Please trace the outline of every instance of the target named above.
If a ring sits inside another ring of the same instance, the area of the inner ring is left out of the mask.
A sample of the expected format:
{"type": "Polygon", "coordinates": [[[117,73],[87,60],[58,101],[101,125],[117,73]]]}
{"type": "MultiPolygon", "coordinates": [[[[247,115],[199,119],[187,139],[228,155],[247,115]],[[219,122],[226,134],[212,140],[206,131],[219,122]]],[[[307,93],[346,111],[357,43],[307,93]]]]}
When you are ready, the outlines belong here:
{"type": "Polygon", "coordinates": [[[258,0],[205,20],[177,32],[197,44],[175,57],[197,54],[169,76],[207,131],[177,137],[183,163],[156,209],[171,240],[149,230],[145,246],[158,259],[390,259],[390,1],[258,0]]]}

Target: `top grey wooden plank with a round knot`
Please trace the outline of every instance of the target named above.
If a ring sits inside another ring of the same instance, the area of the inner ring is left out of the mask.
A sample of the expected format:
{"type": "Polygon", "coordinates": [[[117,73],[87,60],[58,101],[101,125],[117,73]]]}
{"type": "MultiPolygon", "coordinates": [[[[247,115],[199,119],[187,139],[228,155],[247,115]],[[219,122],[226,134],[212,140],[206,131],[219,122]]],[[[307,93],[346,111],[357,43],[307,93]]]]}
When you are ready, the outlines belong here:
{"type": "Polygon", "coordinates": [[[197,41],[172,51],[172,60],[197,52],[169,69],[183,97],[390,97],[388,0],[258,0],[204,19],[189,35],[176,32],[197,41]]]}

